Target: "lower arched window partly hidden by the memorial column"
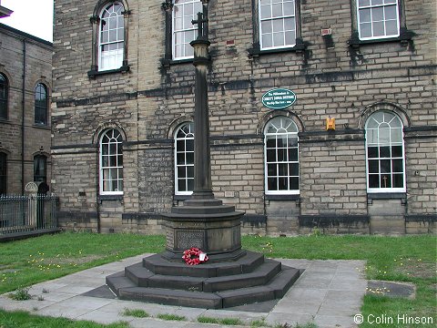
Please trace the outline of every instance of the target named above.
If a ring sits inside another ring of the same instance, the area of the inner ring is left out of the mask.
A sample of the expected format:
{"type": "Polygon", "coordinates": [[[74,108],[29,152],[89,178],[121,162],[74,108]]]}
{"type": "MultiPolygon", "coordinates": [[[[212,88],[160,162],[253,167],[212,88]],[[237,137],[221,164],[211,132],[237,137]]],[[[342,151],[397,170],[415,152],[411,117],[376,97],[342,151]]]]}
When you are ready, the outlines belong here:
{"type": "Polygon", "coordinates": [[[175,134],[175,194],[190,195],[194,189],[194,124],[184,123],[175,134]]]}

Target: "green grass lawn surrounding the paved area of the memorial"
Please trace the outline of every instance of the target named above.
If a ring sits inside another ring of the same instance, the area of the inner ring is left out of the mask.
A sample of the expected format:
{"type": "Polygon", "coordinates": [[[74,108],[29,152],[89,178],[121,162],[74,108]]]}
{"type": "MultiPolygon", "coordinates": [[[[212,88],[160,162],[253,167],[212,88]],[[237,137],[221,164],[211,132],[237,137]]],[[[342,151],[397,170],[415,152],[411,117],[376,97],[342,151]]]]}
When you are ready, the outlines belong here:
{"type": "MultiPolygon", "coordinates": [[[[269,238],[243,236],[243,247],[268,257],[321,260],[365,260],[368,279],[412,282],[416,298],[392,299],[379,295],[364,298],[362,314],[396,317],[431,316],[437,323],[437,238],[435,236],[300,236],[269,238]]],[[[55,279],[72,272],[117,261],[146,252],[163,251],[163,236],[136,234],[93,234],[64,232],[23,241],[0,243],[0,293],[12,292],[36,282],[55,279]]],[[[0,327],[103,327],[94,323],[75,323],[61,319],[0,311],[0,327]],[[25,316],[25,319],[23,317],[25,316]],[[41,320],[46,321],[39,325],[41,320]],[[14,323],[29,323],[21,325],[14,323]],[[53,323],[52,323],[53,321],[53,323]],[[33,323],[33,324],[31,324],[33,323]],[[38,324],[37,324],[38,323],[38,324]]],[[[374,324],[363,323],[361,327],[374,324]]],[[[378,324],[378,327],[396,327],[378,324]]],[[[399,327],[433,325],[399,325],[399,327]]],[[[111,327],[127,327],[117,323],[111,327]]]]}

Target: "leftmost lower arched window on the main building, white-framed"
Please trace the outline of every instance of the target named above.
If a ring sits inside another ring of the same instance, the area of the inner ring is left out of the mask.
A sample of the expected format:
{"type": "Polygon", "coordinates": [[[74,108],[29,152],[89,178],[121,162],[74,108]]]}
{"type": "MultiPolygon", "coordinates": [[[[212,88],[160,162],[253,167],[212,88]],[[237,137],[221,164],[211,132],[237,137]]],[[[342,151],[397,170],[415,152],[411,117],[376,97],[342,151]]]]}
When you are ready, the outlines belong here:
{"type": "Polygon", "coordinates": [[[117,129],[109,128],[100,138],[100,194],[123,193],[123,138],[117,129]]]}

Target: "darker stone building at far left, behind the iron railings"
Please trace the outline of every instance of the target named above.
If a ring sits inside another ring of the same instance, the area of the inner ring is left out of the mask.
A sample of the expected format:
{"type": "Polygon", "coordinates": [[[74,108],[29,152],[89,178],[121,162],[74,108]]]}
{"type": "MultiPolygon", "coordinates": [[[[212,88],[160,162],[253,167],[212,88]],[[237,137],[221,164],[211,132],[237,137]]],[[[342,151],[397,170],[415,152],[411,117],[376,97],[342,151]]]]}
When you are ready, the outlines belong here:
{"type": "Polygon", "coordinates": [[[51,179],[52,43],[0,24],[0,195],[51,179]]]}

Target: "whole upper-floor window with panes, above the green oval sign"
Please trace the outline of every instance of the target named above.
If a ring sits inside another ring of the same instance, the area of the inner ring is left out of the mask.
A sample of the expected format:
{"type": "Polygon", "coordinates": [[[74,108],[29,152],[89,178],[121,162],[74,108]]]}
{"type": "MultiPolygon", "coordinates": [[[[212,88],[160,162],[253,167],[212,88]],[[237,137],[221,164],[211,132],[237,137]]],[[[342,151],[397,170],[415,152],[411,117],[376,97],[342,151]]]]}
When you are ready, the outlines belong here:
{"type": "Polygon", "coordinates": [[[259,0],[259,46],[261,50],[295,45],[295,0],[259,0]]]}

